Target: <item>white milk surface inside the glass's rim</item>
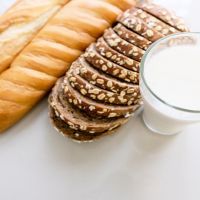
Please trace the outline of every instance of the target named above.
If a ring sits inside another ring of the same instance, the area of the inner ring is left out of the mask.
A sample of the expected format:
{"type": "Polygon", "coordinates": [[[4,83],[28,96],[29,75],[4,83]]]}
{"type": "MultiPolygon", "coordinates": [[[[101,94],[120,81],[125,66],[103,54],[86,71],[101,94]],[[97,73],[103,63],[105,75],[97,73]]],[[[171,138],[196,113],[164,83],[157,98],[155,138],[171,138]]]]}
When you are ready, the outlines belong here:
{"type": "Polygon", "coordinates": [[[165,102],[200,110],[200,47],[166,48],[152,57],[144,77],[151,90],[165,102]]]}

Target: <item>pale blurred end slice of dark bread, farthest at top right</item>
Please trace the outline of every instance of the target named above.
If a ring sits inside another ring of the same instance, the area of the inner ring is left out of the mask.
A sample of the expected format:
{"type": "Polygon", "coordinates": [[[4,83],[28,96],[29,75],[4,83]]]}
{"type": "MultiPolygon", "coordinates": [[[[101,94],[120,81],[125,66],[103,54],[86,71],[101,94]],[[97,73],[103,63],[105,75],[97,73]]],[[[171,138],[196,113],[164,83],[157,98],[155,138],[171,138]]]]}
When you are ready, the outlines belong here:
{"type": "Polygon", "coordinates": [[[174,13],[170,12],[160,5],[156,5],[154,3],[141,3],[138,4],[137,7],[181,32],[189,31],[188,27],[185,25],[184,21],[180,17],[176,16],[174,13]]]}

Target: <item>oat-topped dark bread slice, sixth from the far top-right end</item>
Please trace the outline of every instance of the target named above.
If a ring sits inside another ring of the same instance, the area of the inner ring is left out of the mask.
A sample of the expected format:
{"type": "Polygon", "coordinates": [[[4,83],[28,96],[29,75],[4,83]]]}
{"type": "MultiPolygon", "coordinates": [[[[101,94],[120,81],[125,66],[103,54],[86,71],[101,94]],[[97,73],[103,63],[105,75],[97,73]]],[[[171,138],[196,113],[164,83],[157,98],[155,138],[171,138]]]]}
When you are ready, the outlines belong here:
{"type": "Polygon", "coordinates": [[[89,62],[93,67],[97,68],[98,70],[101,70],[128,83],[139,83],[139,74],[137,72],[128,70],[104,58],[96,51],[94,44],[90,45],[87,48],[84,57],[87,62],[89,62]]]}

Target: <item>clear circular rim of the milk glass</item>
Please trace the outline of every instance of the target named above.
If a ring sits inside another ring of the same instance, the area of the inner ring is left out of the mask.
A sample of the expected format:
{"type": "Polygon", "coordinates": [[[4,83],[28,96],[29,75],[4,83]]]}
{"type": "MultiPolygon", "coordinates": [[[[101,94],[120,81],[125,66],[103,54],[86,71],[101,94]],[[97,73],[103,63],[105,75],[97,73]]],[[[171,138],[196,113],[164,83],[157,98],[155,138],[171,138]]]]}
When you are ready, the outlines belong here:
{"type": "Polygon", "coordinates": [[[162,98],[160,98],[158,95],[156,95],[152,89],[150,88],[150,86],[148,85],[145,76],[144,76],[144,68],[145,68],[145,64],[146,64],[146,60],[149,56],[149,53],[155,49],[161,42],[163,41],[167,41],[170,38],[174,38],[177,36],[192,36],[192,35],[197,35],[200,37],[200,32],[182,32],[182,33],[175,33],[175,34],[171,34],[168,36],[165,36],[159,40],[157,40],[156,42],[154,42],[145,52],[144,56],[142,57],[141,60],[141,65],[140,65],[140,78],[143,81],[145,87],[148,89],[148,91],[150,92],[151,95],[153,95],[153,97],[155,97],[157,100],[159,100],[161,103],[165,104],[168,107],[171,107],[175,110],[178,111],[182,111],[182,112],[187,112],[187,113],[191,113],[191,114],[200,114],[200,110],[190,110],[190,109],[186,109],[186,108],[182,108],[182,107],[178,107],[178,106],[174,106],[168,102],[166,102],[165,100],[163,100],[162,98]]]}

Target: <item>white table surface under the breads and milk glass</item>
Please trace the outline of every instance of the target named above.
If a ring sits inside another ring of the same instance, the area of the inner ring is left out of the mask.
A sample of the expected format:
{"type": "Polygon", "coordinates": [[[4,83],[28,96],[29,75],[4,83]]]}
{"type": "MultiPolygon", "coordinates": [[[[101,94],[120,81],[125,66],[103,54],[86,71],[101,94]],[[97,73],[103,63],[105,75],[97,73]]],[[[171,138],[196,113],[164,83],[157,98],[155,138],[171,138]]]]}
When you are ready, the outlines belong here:
{"type": "MultiPolygon", "coordinates": [[[[0,0],[2,12],[13,0],[0,0]]],[[[157,0],[200,31],[199,0],[157,0]]],[[[140,119],[77,144],[49,124],[43,101],[0,136],[0,200],[199,200],[200,125],[165,137],[140,119]]]]}

